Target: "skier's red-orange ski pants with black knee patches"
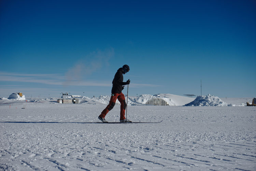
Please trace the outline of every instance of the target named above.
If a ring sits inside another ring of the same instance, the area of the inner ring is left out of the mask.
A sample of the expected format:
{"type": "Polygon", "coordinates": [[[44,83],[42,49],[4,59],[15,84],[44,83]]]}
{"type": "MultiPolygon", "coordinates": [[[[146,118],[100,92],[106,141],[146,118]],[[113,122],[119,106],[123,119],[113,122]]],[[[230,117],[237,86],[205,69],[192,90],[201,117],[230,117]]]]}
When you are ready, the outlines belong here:
{"type": "Polygon", "coordinates": [[[106,114],[111,111],[115,104],[116,104],[116,99],[121,103],[120,106],[120,120],[125,119],[125,109],[126,109],[126,102],[125,102],[125,95],[121,92],[120,94],[114,93],[111,95],[110,101],[108,106],[101,112],[100,117],[105,118],[106,114]]]}

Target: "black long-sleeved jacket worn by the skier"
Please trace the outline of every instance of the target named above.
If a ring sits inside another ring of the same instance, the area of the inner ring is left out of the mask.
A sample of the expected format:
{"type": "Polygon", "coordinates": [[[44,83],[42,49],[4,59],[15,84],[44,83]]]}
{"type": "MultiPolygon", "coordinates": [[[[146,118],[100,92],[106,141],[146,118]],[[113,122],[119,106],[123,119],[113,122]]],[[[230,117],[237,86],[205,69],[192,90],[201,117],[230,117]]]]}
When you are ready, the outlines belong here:
{"type": "Polygon", "coordinates": [[[123,82],[123,80],[124,80],[123,69],[119,68],[115,74],[113,81],[112,81],[112,84],[113,84],[112,90],[111,90],[112,94],[114,94],[114,93],[120,94],[122,92],[123,85],[127,85],[127,83],[123,82]]]}

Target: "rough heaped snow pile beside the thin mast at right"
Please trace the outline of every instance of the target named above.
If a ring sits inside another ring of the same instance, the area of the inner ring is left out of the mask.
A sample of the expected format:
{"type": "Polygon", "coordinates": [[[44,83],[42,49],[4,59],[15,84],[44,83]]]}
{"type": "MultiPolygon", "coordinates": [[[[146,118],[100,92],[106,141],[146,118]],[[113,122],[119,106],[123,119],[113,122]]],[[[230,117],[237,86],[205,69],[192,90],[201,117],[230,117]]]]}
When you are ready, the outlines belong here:
{"type": "Polygon", "coordinates": [[[184,106],[232,106],[232,104],[227,104],[217,96],[208,94],[207,96],[197,96],[194,101],[187,103],[184,106]]]}

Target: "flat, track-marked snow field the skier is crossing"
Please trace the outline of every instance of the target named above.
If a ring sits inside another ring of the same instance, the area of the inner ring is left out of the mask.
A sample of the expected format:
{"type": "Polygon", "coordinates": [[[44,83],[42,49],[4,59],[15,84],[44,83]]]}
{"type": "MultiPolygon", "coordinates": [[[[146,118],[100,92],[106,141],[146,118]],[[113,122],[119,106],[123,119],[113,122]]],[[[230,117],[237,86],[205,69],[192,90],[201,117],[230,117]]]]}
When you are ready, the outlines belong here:
{"type": "MultiPolygon", "coordinates": [[[[254,107],[128,106],[134,122],[163,122],[80,124],[60,122],[100,122],[105,105],[9,105],[0,170],[256,170],[254,107]]],[[[118,105],[106,120],[119,121],[118,105]]]]}

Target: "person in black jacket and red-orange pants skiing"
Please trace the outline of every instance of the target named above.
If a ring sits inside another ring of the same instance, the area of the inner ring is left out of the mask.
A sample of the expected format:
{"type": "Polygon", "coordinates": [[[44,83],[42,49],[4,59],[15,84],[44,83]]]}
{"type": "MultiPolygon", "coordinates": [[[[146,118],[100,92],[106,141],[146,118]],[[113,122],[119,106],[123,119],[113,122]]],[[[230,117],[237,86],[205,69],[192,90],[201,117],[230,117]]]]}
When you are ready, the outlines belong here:
{"type": "Polygon", "coordinates": [[[112,81],[112,90],[111,90],[111,98],[109,101],[108,106],[101,112],[99,115],[99,119],[102,122],[107,122],[105,120],[106,114],[112,110],[115,106],[116,99],[121,103],[120,106],[120,122],[131,122],[130,120],[125,118],[125,109],[126,109],[126,102],[125,102],[125,95],[122,93],[122,90],[124,89],[124,85],[130,84],[130,79],[126,82],[123,82],[124,77],[123,74],[126,74],[130,71],[130,67],[128,65],[124,65],[122,68],[119,68],[115,74],[115,77],[112,81]]]}

